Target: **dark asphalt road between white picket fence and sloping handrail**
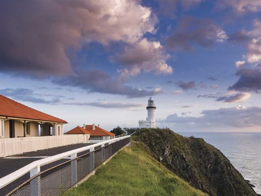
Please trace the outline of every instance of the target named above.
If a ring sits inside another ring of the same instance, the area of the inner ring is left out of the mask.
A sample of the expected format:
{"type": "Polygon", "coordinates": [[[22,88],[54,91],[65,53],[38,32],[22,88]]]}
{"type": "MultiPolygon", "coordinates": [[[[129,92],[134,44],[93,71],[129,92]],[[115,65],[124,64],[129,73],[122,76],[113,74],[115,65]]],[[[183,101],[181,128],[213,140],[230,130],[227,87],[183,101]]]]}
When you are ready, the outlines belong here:
{"type": "MultiPolygon", "coordinates": [[[[41,151],[37,151],[37,152],[29,152],[29,153],[25,153],[23,155],[15,155],[15,156],[6,157],[6,158],[0,158],[0,178],[20,169],[22,167],[24,167],[25,165],[27,165],[31,162],[34,162],[34,161],[37,161],[37,160],[40,160],[42,158],[46,158],[46,157],[49,157],[49,156],[57,155],[57,154],[60,154],[60,153],[63,153],[63,152],[67,152],[67,151],[70,151],[70,150],[82,148],[84,146],[88,146],[88,145],[92,145],[92,144],[93,143],[68,145],[68,146],[62,146],[62,147],[58,147],[58,148],[54,148],[54,149],[41,150],[41,151]]],[[[85,154],[87,152],[89,152],[89,150],[84,151],[84,152],[80,152],[80,153],[77,154],[77,156],[80,156],[80,155],[85,154]]],[[[58,160],[56,162],[52,162],[50,164],[43,165],[43,166],[41,166],[40,170],[44,171],[48,168],[51,168],[55,165],[58,165],[62,162],[65,162],[67,160],[68,159],[61,159],[61,160],[58,160]]],[[[18,178],[17,180],[12,182],[11,184],[0,189],[0,195],[7,194],[9,191],[11,191],[14,188],[16,188],[17,186],[21,185],[24,181],[26,181],[29,178],[30,178],[30,173],[28,172],[27,174],[18,178]]]]}

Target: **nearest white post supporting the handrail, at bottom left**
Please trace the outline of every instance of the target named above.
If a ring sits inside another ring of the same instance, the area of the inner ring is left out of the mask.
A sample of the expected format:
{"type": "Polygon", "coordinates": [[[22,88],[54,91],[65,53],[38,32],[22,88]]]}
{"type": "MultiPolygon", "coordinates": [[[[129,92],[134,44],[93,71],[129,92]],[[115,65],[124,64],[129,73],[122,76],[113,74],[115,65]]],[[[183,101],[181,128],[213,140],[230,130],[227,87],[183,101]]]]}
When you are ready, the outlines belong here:
{"type": "MultiPolygon", "coordinates": [[[[40,173],[40,165],[30,170],[30,178],[40,173]]],[[[38,175],[36,178],[30,181],[30,193],[31,196],[41,195],[41,178],[38,175]]]]}

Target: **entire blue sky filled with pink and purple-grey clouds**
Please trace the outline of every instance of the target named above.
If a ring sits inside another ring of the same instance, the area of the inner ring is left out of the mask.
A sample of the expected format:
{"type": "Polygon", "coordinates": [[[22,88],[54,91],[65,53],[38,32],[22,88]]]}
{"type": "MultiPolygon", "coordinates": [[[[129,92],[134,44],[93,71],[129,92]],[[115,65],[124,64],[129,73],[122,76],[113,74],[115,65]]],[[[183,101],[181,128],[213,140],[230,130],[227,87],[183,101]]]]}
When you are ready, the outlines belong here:
{"type": "Polygon", "coordinates": [[[261,132],[261,1],[0,1],[0,94],[85,124],[261,132]]]}

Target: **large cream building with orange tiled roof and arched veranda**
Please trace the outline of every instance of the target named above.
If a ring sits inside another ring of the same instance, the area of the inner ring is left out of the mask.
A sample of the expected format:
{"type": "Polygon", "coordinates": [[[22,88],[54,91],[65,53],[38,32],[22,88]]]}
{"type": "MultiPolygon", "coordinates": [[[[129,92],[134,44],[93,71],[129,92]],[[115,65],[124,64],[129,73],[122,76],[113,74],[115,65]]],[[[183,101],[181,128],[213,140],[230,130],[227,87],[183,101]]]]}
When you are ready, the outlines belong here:
{"type": "Polygon", "coordinates": [[[0,138],[63,135],[65,123],[63,119],[0,95],[0,138]]]}

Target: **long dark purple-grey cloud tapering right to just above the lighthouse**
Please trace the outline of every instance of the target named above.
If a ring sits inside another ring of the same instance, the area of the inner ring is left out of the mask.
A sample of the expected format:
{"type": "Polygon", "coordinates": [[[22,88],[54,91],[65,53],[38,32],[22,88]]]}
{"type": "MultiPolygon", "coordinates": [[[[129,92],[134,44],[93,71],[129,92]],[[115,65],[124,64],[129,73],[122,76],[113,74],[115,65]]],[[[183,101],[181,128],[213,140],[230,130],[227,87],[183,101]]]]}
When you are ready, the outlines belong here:
{"type": "Polygon", "coordinates": [[[78,70],[77,76],[53,78],[52,82],[60,86],[78,87],[89,93],[108,93],[126,95],[128,98],[151,96],[162,93],[161,88],[143,90],[125,85],[121,80],[111,78],[100,70],[78,70]]]}

